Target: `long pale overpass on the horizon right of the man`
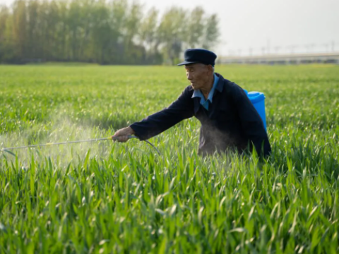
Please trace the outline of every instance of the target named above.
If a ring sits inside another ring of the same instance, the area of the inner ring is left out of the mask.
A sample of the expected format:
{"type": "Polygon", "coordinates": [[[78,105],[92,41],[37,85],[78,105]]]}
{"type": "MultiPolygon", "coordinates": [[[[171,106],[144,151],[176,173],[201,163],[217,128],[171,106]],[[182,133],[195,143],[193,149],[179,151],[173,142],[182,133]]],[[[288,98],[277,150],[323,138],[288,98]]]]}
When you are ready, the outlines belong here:
{"type": "Polygon", "coordinates": [[[230,64],[302,64],[336,63],[339,64],[339,52],[312,54],[265,54],[261,56],[222,56],[218,63],[230,64]]]}

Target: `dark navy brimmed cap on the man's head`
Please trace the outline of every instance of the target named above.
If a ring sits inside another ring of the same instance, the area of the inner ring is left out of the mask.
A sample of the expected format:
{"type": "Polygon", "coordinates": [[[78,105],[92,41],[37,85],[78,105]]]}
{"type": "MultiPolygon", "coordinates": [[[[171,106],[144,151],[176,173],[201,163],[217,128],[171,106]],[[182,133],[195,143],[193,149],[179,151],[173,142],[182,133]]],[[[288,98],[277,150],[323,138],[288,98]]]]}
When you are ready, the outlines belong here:
{"type": "Polygon", "coordinates": [[[203,63],[214,66],[217,55],[207,49],[186,49],[184,58],[185,61],[179,63],[178,66],[189,63],[203,63]]]}

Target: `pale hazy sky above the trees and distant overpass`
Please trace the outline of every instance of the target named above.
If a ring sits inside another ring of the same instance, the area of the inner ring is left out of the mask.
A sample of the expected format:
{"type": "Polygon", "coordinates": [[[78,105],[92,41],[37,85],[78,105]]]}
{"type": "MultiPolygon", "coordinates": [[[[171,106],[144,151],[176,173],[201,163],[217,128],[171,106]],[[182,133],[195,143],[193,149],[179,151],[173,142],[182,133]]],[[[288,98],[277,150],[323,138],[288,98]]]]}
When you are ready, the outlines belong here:
{"type": "Polygon", "coordinates": [[[219,55],[249,54],[250,48],[253,54],[261,54],[268,46],[270,53],[331,52],[333,46],[339,51],[339,0],[139,1],[145,9],[202,6],[207,13],[217,13],[222,34],[215,49],[219,55]]]}

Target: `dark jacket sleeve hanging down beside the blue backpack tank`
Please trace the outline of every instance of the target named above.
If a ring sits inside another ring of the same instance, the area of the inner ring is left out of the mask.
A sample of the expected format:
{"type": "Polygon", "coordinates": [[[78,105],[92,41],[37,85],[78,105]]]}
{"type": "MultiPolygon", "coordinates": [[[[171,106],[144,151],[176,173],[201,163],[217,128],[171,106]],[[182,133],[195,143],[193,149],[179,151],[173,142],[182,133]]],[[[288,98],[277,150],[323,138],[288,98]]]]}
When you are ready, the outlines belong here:
{"type": "Polygon", "coordinates": [[[249,97],[247,97],[244,90],[236,84],[234,84],[232,89],[232,96],[246,138],[254,144],[259,157],[262,157],[262,155],[264,157],[270,155],[270,142],[268,141],[268,135],[263,126],[263,121],[249,100],[249,97]]]}

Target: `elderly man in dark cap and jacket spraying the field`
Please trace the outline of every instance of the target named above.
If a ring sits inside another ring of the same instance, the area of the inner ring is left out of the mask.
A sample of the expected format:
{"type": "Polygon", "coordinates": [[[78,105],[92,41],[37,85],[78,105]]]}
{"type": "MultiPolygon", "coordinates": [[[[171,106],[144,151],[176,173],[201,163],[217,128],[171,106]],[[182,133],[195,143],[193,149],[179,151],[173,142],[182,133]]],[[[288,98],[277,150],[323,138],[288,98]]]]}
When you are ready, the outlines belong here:
{"type": "Polygon", "coordinates": [[[187,49],[184,65],[191,85],[169,107],[117,131],[112,138],[126,142],[129,135],[141,140],[192,116],[201,121],[199,153],[227,149],[243,152],[255,146],[259,156],[270,154],[263,121],[239,85],[214,73],[217,56],[206,49],[187,49]]]}

